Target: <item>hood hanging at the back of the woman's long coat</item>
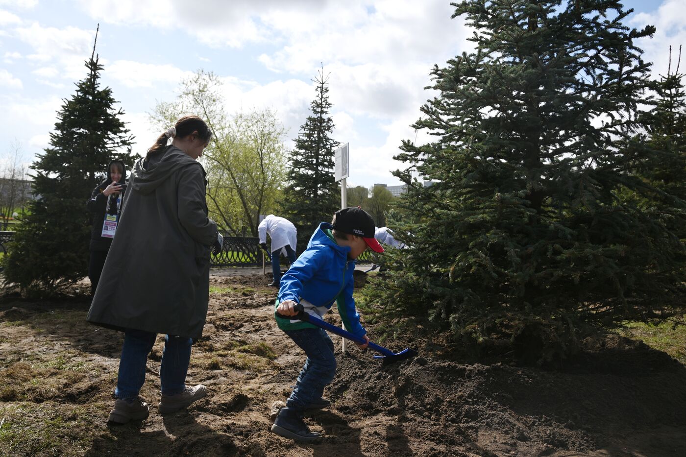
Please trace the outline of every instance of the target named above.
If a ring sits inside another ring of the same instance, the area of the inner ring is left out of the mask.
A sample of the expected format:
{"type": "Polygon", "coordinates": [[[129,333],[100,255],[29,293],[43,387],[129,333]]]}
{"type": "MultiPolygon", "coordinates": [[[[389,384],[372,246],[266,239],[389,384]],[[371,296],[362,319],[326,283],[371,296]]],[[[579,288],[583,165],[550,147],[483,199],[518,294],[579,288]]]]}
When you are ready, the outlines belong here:
{"type": "MultiPolygon", "coordinates": [[[[141,194],[151,194],[174,172],[189,165],[199,165],[202,167],[191,156],[176,148],[176,146],[169,145],[162,152],[143,157],[134,163],[131,172],[133,188],[141,194]]],[[[202,170],[202,176],[206,176],[204,169],[202,170]]]]}

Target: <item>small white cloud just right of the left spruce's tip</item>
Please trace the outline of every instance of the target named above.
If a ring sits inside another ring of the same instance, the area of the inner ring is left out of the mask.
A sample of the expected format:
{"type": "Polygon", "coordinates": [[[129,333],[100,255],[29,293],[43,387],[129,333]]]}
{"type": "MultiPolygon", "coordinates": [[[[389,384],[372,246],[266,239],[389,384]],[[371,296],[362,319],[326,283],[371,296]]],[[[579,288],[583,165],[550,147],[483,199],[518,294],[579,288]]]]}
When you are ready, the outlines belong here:
{"type": "Polygon", "coordinates": [[[133,60],[115,60],[107,67],[108,78],[113,78],[126,87],[153,87],[164,83],[178,86],[183,78],[193,73],[183,71],[174,65],[154,65],[133,60]]]}

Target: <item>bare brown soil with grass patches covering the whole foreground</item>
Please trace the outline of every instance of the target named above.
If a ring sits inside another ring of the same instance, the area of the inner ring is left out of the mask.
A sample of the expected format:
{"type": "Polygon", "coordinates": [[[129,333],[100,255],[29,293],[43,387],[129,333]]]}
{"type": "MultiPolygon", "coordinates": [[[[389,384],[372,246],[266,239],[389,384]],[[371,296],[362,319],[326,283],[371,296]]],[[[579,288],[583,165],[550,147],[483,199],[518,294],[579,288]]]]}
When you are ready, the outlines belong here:
{"type": "MultiPolygon", "coordinates": [[[[106,419],[121,334],[86,323],[83,296],[58,303],[5,298],[0,455],[686,455],[686,368],[619,336],[584,341],[556,371],[461,364],[423,341],[385,342],[394,350],[411,344],[420,354],[381,366],[353,344],[341,353],[332,336],[338,374],[325,392],[332,407],[306,418],[324,440],[298,445],[276,436],[270,407],[285,401],[304,356],[276,328],[276,290],[265,287],[267,279],[213,279],[188,376],[188,384],[208,386],[208,397],[158,414],[161,336],[141,391],[150,417],[119,426],[106,419]]],[[[335,314],[327,320],[340,324],[335,314]]]]}

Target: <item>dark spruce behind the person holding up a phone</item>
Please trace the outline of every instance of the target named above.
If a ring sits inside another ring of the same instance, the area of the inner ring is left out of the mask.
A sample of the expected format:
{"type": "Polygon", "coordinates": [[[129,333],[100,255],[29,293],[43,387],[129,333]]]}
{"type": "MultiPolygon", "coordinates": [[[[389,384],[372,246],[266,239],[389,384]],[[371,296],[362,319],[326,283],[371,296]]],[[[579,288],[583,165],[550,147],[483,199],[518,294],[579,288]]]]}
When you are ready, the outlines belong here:
{"type": "Polygon", "coordinates": [[[49,148],[31,165],[38,198],[29,204],[4,259],[5,282],[23,289],[54,290],[86,276],[91,231],[86,201],[109,161],[132,165],[133,137],[111,89],[100,87],[103,67],[95,45],[86,69],[88,75],[57,113],[49,148]]]}

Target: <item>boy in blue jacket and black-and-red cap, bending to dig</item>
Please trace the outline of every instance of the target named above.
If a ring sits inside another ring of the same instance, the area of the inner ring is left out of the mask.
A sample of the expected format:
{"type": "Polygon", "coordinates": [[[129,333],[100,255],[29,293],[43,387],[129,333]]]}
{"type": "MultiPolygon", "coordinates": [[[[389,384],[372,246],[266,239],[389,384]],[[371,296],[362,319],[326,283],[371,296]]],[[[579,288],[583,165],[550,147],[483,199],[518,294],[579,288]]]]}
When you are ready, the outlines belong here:
{"type": "MultiPolygon", "coordinates": [[[[295,316],[300,303],[311,318],[322,319],[335,302],[345,328],[364,338],[366,330],[359,323],[353,299],[355,259],[371,248],[383,253],[374,237],[372,216],[359,207],[336,211],[331,224],[322,222],[309,239],[307,249],[281,277],[274,315],[279,328],[305,351],[307,360],[300,371],[296,387],[274,420],[272,432],[296,441],[314,441],[321,434],[309,432],[303,422],[307,410],[327,408],[322,398],[324,387],[336,372],[333,342],[326,331],[300,320],[276,316],[295,316]]],[[[367,344],[357,344],[366,349],[367,344]]]]}

